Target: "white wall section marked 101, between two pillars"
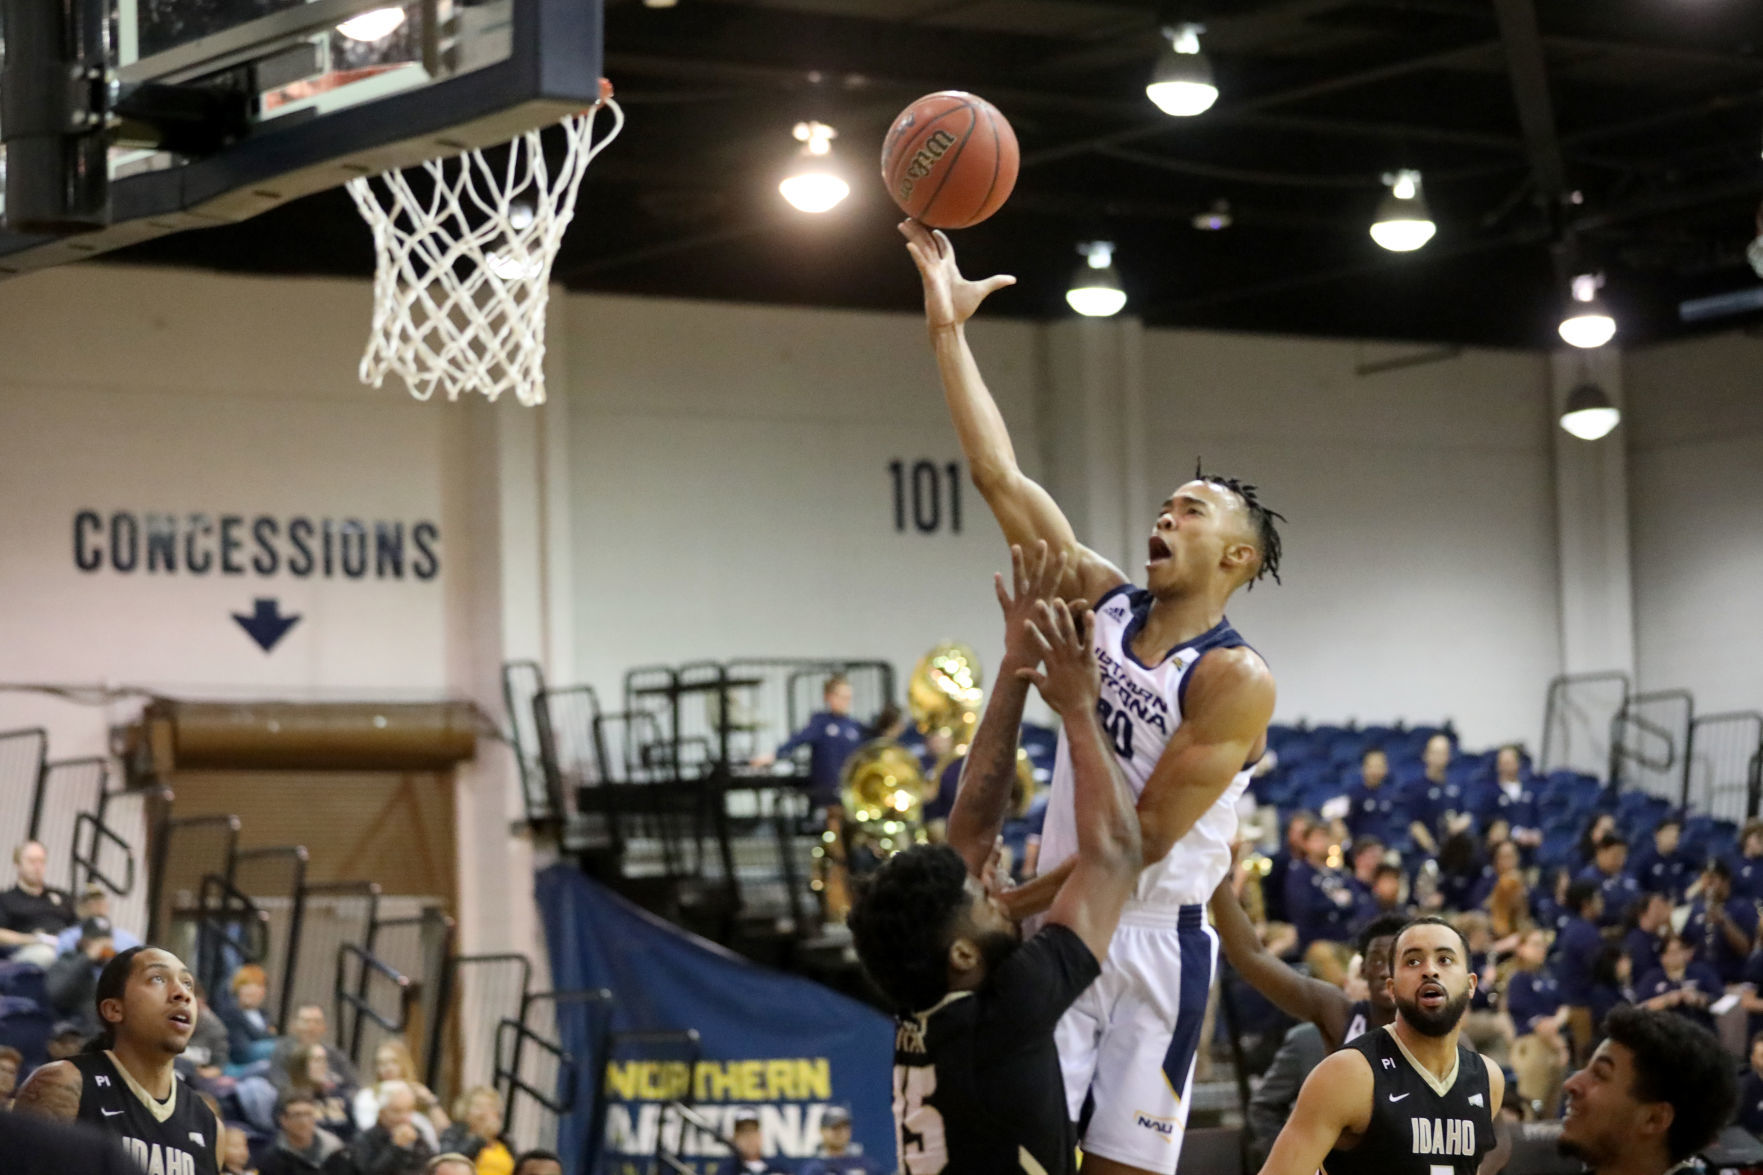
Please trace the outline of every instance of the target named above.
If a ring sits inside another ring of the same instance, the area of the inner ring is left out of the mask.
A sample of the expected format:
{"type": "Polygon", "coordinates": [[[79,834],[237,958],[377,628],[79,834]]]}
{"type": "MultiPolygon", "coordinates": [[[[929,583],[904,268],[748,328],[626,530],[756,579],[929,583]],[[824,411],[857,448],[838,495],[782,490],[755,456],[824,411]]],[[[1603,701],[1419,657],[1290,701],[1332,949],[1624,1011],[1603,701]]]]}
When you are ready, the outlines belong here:
{"type": "MultiPolygon", "coordinates": [[[[961,457],[920,318],[575,296],[568,323],[578,665],[601,697],[702,658],[906,672],[959,639],[996,665],[1008,561],[964,473],[961,533],[896,531],[889,462],[961,457]]],[[[971,337],[1033,468],[1035,328],[971,337]]],[[[947,515],[947,475],[940,494],[947,515]]]]}

